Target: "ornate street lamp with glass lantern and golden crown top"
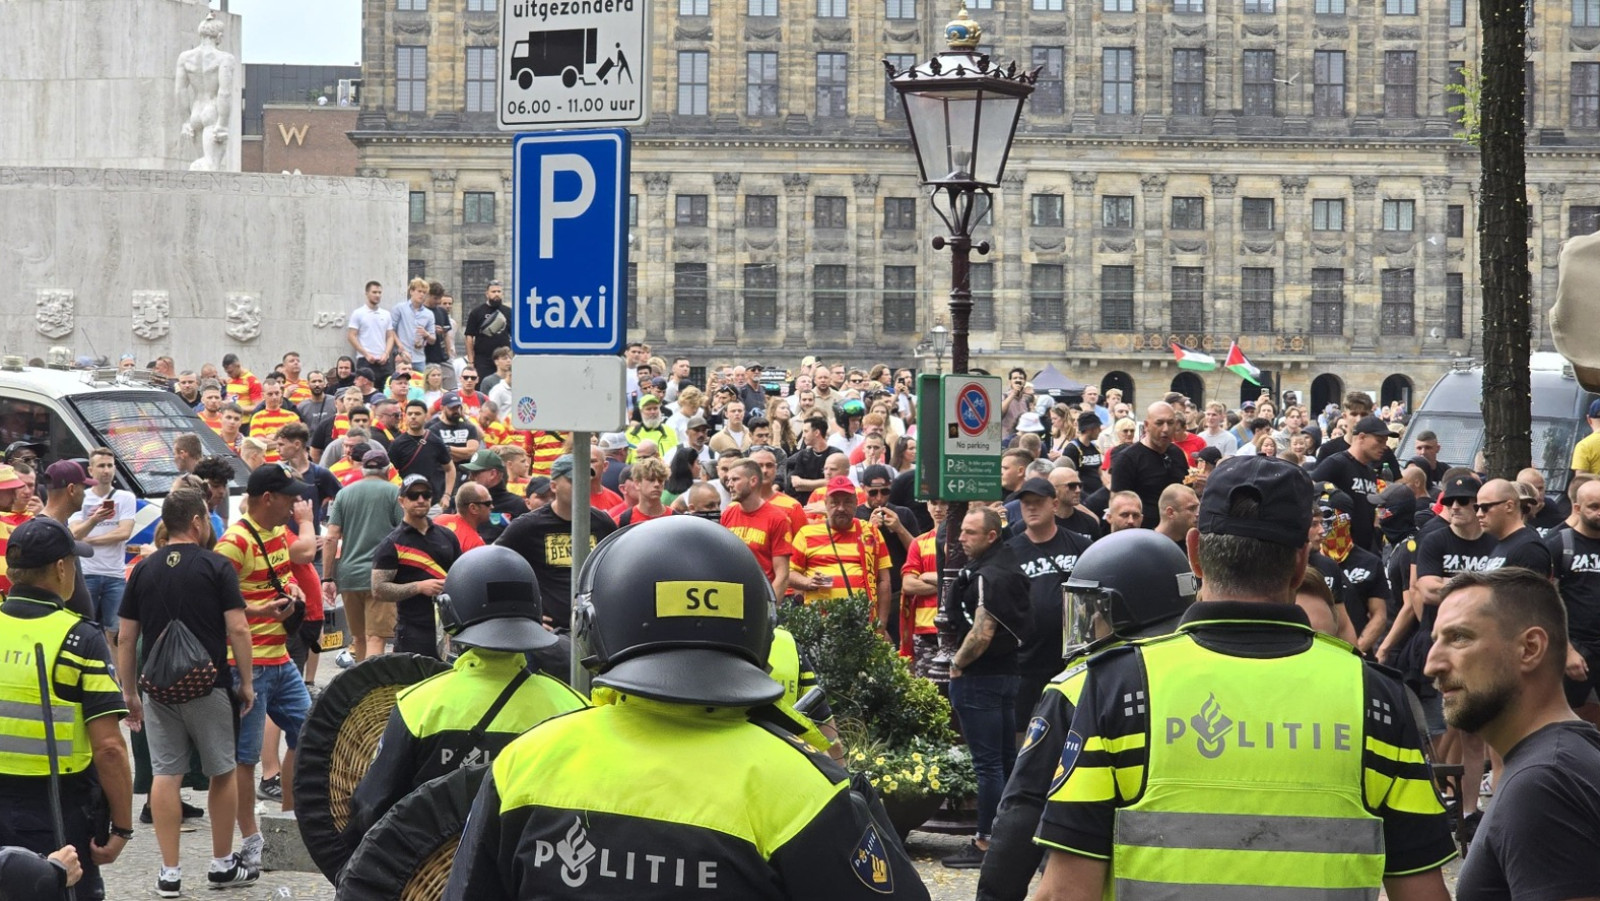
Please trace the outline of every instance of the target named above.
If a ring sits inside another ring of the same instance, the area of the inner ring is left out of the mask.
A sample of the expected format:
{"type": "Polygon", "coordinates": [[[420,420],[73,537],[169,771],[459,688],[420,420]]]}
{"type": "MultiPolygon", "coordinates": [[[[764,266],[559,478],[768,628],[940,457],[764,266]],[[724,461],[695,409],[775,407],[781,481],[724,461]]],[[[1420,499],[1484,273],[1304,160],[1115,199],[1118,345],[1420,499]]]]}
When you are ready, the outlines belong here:
{"type": "MultiPolygon", "coordinates": [[[[966,16],[966,3],[950,24],[944,26],[949,50],[906,70],[896,70],[886,59],[890,83],[901,96],[910,144],[917,152],[917,171],[928,186],[934,213],[949,235],[933,238],[934,250],[950,248],[950,371],[965,373],[968,365],[966,334],[973,315],[971,253],[989,253],[989,242],[973,245],[973,224],[984,219],[994,205],[990,190],[1005,174],[1016,122],[1022,101],[1034,93],[1038,69],[1018,72],[1013,61],[1005,69],[989,54],[978,53],[982,29],[966,16]]],[[[944,342],[944,326],[933,328],[934,346],[944,342]]],[[[944,354],[939,352],[942,370],[944,354]]],[[[955,591],[955,576],[966,563],[957,539],[966,504],[950,504],[944,536],[944,571],[941,594],[955,591]]],[[[955,656],[955,637],[939,605],[939,650],[926,674],[934,680],[949,679],[955,656]]]]}

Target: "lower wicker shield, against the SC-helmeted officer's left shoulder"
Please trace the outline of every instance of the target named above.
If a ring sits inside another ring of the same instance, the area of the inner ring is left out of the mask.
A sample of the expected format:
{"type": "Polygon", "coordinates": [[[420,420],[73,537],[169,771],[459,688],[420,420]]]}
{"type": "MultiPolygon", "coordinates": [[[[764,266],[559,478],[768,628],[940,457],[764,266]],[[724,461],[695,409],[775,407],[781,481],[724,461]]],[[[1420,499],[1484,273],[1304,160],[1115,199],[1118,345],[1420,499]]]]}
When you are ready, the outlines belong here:
{"type": "Polygon", "coordinates": [[[362,839],[338,901],[438,901],[488,767],[462,767],[400,799],[362,839]]]}

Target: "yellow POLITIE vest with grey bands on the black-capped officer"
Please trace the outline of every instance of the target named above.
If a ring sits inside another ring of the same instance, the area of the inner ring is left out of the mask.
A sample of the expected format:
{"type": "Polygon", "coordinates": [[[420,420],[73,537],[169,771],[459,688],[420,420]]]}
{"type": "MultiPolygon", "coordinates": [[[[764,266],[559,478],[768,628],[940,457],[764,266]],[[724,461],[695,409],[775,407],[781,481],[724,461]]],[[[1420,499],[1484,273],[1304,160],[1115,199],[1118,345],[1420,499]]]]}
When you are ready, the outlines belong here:
{"type": "Polygon", "coordinates": [[[1382,821],[1363,803],[1365,672],[1344,643],[1240,658],[1179,632],[1149,674],[1144,792],[1117,811],[1112,885],[1152,898],[1378,898],[1382,821]]]}

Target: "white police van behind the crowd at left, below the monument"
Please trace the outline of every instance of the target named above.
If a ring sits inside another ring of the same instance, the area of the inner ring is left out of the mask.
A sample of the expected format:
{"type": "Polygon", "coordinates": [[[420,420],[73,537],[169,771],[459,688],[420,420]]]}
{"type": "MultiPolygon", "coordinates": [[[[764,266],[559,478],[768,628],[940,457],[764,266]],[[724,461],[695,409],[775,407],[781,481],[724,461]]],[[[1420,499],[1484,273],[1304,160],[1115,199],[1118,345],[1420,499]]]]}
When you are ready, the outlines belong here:
{"type": "Polygon", "coordinates": [[[178,479],[178,435],[198,435],[203,456],[234,464],[229,495],[242,495],[250,477],[245,463],[187,403],[155,386],[157,378],[115,368],[24,366],[6,357],[0,360],[0,448],[38,443],[46,448],[40,466],[58,459],[86,464],[91,450],[110,448],[117,455],[117,487],[138,499],[130,543],[147,544],[162,515],[162,498],[178,479]]]}

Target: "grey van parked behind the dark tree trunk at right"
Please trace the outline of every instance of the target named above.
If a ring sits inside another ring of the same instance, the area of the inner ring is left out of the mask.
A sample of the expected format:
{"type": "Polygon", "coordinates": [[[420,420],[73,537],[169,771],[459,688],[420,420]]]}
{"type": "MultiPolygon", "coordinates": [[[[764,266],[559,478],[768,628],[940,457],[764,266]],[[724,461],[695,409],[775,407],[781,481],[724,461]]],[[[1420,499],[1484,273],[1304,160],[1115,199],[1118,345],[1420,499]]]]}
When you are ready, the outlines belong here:
{"type": "MultiPolygon", "coordinates": [[[[1560,354],[1533,354],[1528,360],[1533,397],[1533,466],[1544,474],[1546,491],[1565,493],[1571,477],[1573,445],[1589,434],[1584,414],[1594,394],[1578,384],[1573,365],[1560,354]]],[[[1438,459],[1472,466],[1483,450],[1483,366],[1458,363],[1429,389],[1406,424],[1400,459],[1416,450],[1419,432],[1438,435],[1438,459]]]]}

